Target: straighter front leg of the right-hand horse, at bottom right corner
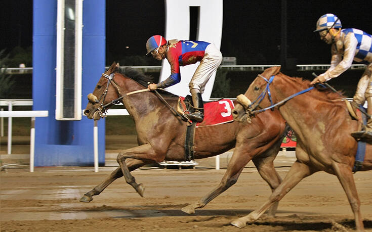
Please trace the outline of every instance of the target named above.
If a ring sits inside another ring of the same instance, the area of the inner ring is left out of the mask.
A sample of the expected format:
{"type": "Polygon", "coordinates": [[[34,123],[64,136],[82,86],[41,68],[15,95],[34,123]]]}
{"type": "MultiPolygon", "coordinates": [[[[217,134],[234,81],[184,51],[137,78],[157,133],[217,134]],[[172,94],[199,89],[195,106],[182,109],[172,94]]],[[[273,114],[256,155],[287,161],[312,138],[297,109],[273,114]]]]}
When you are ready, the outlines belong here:
{"type": "Polygon", "coordinates": [[[354,213],[357,231],[364,231],[363,220],[360,214],[360,201],[356,190],[352,169],[349,165],[333,162],[333,169],[337,178],[340,180],[342,188],[349,200],[351,209],[354,213]]]}

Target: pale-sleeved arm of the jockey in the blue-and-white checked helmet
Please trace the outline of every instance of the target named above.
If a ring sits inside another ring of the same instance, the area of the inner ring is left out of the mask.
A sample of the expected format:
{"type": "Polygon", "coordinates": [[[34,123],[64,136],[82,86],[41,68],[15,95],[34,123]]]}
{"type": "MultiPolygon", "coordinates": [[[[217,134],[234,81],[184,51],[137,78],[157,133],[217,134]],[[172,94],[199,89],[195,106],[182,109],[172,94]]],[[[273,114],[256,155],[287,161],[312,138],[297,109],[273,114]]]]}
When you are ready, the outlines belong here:
{"type": "Polygon", "coordinates": [[[344,58],[342,59],[341,62],[337,63],[337,61],[341,59],[341,54],[339,54],[336,51],[336,54],[332,56],[332,61],[334,62],[334,64],[337,64],[337,65],[335,65],[335,67],[332,68],[332,63],[331,63],[331,67],[325,72],[325,74],[329,78],[338,77],[339,75],[341,75],[343,72],[345,72],[346,70],[350,68],[351,64],[353,63],[357,44],[358,44],[358,41],[352,33],[349,33],[348,35],[346,35],[345,40],[344,40],[344,58]]]}

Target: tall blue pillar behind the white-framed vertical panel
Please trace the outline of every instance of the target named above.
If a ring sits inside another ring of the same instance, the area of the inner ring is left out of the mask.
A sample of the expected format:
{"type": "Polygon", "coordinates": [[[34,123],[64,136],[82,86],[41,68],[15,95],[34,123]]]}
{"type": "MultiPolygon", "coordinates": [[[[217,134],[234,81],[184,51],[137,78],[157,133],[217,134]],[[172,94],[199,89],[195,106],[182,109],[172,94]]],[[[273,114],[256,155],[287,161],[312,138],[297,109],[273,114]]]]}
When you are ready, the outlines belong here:
{"type": "MultiPolygon", "coordinates": [[[[35,121],[35,166],[93,166],[94,122],[57,121],[56,110],[56,23],[57,1],[33,1],[34,110],[48,110],[48,118],[35,121]]],[[[82,107],[105,67],[105,1],[83,2],[82,107]]],[[[100,120],[99,163],[105,160],[105,123],[100,120]]]]}

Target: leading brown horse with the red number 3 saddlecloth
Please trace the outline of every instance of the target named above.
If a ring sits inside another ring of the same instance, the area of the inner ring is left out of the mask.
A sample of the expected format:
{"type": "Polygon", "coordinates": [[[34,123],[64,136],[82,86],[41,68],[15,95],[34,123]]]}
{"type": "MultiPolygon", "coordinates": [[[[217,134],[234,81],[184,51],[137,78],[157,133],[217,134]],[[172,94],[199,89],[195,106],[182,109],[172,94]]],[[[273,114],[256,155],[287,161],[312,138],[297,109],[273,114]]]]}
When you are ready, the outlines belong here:
{"type": "MultiPolygon", "coordinates": [[[[131,175],[131,171],[149,163],[164,160],[183,161],[187,122],[176,117],[152,91],[147,91],[151,81],[130,67],[120,68],[115,62],[102,74],[84,114],[98,120],[107,107],[122,102],[135,121],[138,147],[121,151],[117,155],[120,167],[114,170],[102,183],[86,193],[81,202],[90,202],[112,181],[125,176],[137,193],[143,196],[144,188],[131,175]],[[119,100],[118,100],[119,98],[119,100]],[[113,103],[111,104],[111,102],[113,103]]],[[[172,107],[177,106],[178,96],[159,90],[161,96],[172,107]]],[[[235,147],[227,171],[216,189],[182,210],[194,213],[233,185],[244,166],[253,160],[260,175],[273,191],[281,182],[274,169],[275,159],[286,128],[285,121],[277,110],[268,111],[247,122],[231,122],[209,127],[198,127],[195,131],[194,156],[201,159],[224,153],[235,147]]],[[[272,207],[275,214],[277,205],[272,207]]]]}

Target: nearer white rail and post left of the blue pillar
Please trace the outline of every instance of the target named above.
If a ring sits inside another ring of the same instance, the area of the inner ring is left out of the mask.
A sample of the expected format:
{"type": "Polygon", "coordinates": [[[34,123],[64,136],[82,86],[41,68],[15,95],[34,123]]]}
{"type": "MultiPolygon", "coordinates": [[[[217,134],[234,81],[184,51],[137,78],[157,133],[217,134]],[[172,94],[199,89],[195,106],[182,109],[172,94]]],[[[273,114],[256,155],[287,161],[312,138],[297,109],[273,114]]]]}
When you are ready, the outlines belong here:
{"type": "MultiPolygon", "coordinates": [[[[34,155],[35,155],[35,117],[48,117],[47,110],[35,110],[35,111],[1,111],[1,118],[28,118],[31,117],[31,131],[30,131],[30,172],[33,172],[34,167],[34,155]]],[[[9,125],[8,125],[9,126],[9,125]]],[[[8,148],[12,146],[12,138],[8,137],[8,148]]],[[[9,150],[9,149],[8,149],[9,150]]],[[[8,152],[10,153],[10,152],[8,152]]]]}

